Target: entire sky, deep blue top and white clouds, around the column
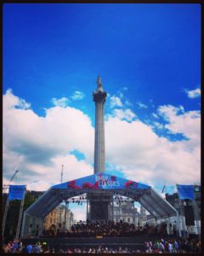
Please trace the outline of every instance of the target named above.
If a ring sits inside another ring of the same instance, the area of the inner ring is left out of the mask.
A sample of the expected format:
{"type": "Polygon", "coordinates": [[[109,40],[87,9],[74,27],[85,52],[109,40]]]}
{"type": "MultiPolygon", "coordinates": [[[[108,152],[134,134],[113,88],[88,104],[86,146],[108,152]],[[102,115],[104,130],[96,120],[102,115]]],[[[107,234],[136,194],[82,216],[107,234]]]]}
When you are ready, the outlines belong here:
{"type": "Polygon", "coordinates": [[[59,162],[67,163],[67,179],[93,172],[92,93],[98,74],[109,94],[106,171],[158,189],[199,183],[201,5],[181,3],[4,3],[5,182],[15,168],[25,183],[52,172],[47,184],[33,183],[47,188],[59,183],[59,162]],[[63,125],[73,142],[60,131],[63,125]],[[120,139],[114,140],[114,132],[120,139]],[[163,162],[156,162],[160,156],[163,162]],[[170,169],[172,162],[176,167],[170,169]]]}

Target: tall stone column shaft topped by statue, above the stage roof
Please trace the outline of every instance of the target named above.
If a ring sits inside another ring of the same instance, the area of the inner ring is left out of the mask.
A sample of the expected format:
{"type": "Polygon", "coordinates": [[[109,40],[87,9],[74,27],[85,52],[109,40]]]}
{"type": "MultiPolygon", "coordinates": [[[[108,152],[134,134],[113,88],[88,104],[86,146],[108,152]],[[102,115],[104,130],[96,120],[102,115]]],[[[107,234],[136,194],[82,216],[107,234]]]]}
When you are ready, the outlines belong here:
{"type": "Polygon", "coordinates": [[[103,90],[98,76],[97,90],[93,93],[95,102],[95,144],[94,144],[94,174],[105,172],[105,124],[104,105],[107,93],[103,90]]]}

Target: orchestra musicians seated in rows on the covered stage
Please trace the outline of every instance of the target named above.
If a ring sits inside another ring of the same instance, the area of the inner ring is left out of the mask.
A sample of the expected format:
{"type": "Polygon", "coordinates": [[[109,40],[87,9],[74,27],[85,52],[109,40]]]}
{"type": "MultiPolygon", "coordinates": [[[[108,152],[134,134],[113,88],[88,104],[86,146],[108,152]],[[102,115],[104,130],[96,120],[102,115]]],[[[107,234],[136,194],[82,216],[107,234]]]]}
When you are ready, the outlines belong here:
{"type": "MultiPolygon", "coordinates": [[[[145,224],[142,226],[135,226],[114,221],[88,221],[87,223],[80,222],[71,226],[70,230],[62,231],[50,228],[43,230],[43,237],[134,237],[142,234],[148,236],[168,236],[166,224],[150,226],[145,224]]],[[[176,234],[173,234],[176,236],[176,234]]]]}

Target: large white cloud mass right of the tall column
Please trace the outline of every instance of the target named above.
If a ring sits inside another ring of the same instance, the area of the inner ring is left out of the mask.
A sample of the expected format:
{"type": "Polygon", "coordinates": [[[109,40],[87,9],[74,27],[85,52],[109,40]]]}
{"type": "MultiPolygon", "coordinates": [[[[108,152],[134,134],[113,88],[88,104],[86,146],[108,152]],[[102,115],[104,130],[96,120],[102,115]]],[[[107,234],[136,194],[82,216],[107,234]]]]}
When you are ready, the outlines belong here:
{"type": "MultiPolygon", "coordinates": [[[[143,183],[200,183],[201,114],[184,112],[182,106],[161,106],[158,113],[168,122],[169,131],[182,133],[188,140],[171,142],[139,120],[127,123],[120,116],[109,116],[106,156],[112,169],[143,183]]],[[[163,127],[159,122],[156,126],[163,127]]]]}

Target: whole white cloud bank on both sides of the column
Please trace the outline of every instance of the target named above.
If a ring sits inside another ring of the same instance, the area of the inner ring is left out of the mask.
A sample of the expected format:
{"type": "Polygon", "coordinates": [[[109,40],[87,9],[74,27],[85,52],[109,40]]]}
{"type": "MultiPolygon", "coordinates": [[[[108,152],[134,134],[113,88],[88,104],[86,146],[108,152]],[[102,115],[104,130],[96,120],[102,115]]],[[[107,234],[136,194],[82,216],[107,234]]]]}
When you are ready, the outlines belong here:
{"type": "MultiPolygon", "coordinates": [[[[57,102],[40,117],[11,90],[3,96],[3,183],[16,169],[15,183],[37,190],[60,182],[61,165],[64,181],[94,172],[91,120],[81,110],[57,102]],[[85,159],[77,160],[73,150],[85,159]]],[[[131,109],[113,108],[105,121],[106,161],[125,177],[147,184],[200,183],[200,112],[167,105],[157,114],[165,119],[169,132],[187,139],[171,142],[158,137],[131,109]]]]}

